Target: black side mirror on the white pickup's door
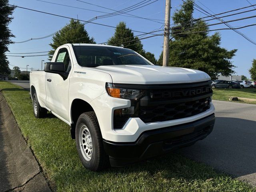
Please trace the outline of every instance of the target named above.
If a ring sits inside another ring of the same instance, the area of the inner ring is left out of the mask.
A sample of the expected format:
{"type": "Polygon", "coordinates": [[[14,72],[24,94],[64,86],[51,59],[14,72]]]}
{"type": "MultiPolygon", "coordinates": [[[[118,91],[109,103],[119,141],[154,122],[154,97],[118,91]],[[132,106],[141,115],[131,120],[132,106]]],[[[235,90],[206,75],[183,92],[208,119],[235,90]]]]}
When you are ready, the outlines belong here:
{"type": "Polygon", "coordinates": [[[65,65],[63,62],[47,62],[44,67],[47,73],[55,73],[62,76],[63,80],[68,78],[68,73],[65,72],[65,65]]]}

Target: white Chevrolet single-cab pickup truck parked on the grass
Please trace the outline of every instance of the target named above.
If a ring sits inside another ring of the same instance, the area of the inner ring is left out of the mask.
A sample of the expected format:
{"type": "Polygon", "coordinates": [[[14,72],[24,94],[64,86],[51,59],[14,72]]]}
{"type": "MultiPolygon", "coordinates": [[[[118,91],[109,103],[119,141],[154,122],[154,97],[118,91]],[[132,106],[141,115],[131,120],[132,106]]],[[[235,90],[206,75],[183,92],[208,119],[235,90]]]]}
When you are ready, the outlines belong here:
{"type": "Polygon", "coordinates": [[[190,146],[212,132],[208,74],[162,67],[133,50],[97,44],[57,48],[30,72],[34,115],[70,125],[84,167],[101,170],[190,146]]]}

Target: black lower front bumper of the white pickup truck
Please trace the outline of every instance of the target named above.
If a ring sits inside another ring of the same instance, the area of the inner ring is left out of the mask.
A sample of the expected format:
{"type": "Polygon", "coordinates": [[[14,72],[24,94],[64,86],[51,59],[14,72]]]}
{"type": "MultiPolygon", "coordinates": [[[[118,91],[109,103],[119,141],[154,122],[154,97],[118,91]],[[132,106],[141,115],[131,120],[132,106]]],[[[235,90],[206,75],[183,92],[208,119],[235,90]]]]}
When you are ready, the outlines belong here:
{"type": "Polygon", "coordinates": [[[135,142],[103,140],[103,144],[111,166],[123,166],[190,146],[206,138],[212,132],[214,122],[212,114],[194,122],[145,131],[135,142]]]}

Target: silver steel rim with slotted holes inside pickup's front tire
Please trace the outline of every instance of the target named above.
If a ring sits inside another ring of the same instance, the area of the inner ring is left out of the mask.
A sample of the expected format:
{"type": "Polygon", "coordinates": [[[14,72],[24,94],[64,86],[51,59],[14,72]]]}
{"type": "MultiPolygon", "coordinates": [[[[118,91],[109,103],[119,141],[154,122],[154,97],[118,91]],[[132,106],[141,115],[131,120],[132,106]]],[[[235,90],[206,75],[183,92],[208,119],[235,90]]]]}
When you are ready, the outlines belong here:
{"type": "Polygon", "coordinates": [[[82,155],[86,161],[92,158],[92,137],[86,125],[80,127],[79,145],[82,155]]]}

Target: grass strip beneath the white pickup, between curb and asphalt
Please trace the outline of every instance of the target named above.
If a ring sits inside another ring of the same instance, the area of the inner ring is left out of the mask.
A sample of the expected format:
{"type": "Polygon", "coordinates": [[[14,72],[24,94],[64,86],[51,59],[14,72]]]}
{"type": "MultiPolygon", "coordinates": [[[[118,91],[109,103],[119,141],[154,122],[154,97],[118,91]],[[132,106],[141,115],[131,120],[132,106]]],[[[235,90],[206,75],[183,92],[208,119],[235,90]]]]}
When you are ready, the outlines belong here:
{"type": "Polygon", "coordinates": [[[36,119],[29,92],[19,86],[0,82],[0,89],[55,191],[256,192],[245,182],[175,153],[102,172],[86,170],[67,124],[51,114],[36,119]]]}

